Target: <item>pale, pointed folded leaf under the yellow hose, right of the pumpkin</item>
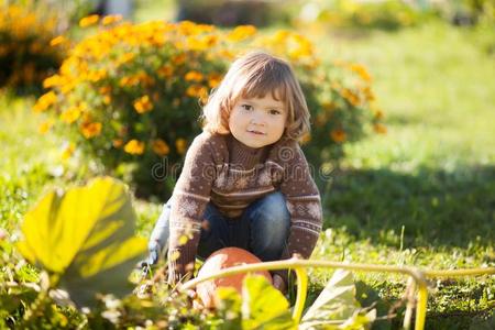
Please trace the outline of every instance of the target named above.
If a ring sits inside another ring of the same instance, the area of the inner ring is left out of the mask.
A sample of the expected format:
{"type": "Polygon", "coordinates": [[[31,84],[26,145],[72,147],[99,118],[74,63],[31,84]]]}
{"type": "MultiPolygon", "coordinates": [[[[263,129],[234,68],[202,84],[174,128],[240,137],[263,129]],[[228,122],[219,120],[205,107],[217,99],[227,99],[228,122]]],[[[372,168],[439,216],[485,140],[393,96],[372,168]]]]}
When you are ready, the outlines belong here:
{"type": "Polygon", "coordinates": [[[307,310],[299,329],[365,329],[376,311],[365,311],[355,299],[352,273],[337,270],[324,289],[307,310]]]}

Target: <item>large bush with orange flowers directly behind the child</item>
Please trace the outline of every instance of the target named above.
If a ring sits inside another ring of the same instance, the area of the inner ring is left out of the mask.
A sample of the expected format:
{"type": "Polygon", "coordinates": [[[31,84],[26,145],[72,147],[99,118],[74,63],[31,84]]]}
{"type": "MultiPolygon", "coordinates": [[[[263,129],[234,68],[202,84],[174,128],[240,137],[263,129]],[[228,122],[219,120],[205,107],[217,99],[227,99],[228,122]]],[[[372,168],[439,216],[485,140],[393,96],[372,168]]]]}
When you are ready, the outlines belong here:
{"type": "MultiPolygon", "coordinates": [[[[80,25],[98,21],[94,15],[80,25]]],[[[312,139],[306,139],[311,161],[337,160],[343,143],[359,139],[372,121],[366,70],[320,65],[314,45],[299,34],[113,21],[103,18],[95,35],[74,46],[59,73],[44,81],[50,91],[34,109],[56,116],[55,128],[65,130],[75,147],[101,160],[112,175],[129,177],[138,195],[169,196],[187,145],[200,132],[200,102],[246,50],[264,48],[297,70],[315,118],[312,139]]]]}

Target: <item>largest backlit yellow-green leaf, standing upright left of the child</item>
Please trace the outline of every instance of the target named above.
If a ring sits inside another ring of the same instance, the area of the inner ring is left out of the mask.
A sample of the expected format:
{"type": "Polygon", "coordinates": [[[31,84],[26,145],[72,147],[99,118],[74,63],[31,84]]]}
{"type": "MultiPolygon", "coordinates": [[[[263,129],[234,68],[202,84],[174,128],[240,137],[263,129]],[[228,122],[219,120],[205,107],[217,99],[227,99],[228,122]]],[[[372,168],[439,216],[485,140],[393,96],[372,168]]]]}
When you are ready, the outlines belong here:
{"type": "Polygon", "coordinates": [[[127,187],[101,177],[44,196],[25,215],[18,248],[31,263],[58,275],[78,306],[89,306],[96,293],[129,292],[128,276],[146,246],[134,230],[127,187]]]}

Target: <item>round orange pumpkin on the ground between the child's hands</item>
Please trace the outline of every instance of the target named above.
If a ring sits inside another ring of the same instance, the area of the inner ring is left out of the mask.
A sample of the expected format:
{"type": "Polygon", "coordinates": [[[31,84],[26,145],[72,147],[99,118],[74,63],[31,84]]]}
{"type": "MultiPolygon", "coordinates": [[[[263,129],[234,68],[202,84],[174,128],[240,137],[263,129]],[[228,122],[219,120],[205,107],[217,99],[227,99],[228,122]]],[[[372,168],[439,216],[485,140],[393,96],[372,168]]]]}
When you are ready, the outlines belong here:
{"type": "MultiPolygon", "coordinates": [[[[261,260],[251,252],[239,248],[224,248],[216,251],[206,260],[205,264],[198,272],[198,277],[212,275],[224,268],[254,263],[261,263],[261,260]]],[[[272,283],[272,276],[267,271],[257,271],[255,274],[265,276],[266,279],[272,283]]],[[[217,288],[230,286],[235,288],[238,293],[241,294],[242,279],[245,275],[246,273],[202,282],[197,285],[196,292],[205,307],[211,308],[215,306],[215,295],[217,288]]]]}

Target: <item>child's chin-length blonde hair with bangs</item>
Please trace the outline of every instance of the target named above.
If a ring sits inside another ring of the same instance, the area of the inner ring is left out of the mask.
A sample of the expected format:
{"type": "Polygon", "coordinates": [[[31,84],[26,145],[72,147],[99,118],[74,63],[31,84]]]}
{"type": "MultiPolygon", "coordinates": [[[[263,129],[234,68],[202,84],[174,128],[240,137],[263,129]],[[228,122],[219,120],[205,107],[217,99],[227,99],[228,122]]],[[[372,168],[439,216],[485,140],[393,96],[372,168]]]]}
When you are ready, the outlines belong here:
{"type": "Polygon", "coordinates": [[[263,52],[248,53],[232,63],[202,109],[204,131],[228,134],[230,112],[237,100],[264,97],[266,92],[286,106],[285,136],[300,140],[309,133],[308,106],[290,65],[263,52]]]}

